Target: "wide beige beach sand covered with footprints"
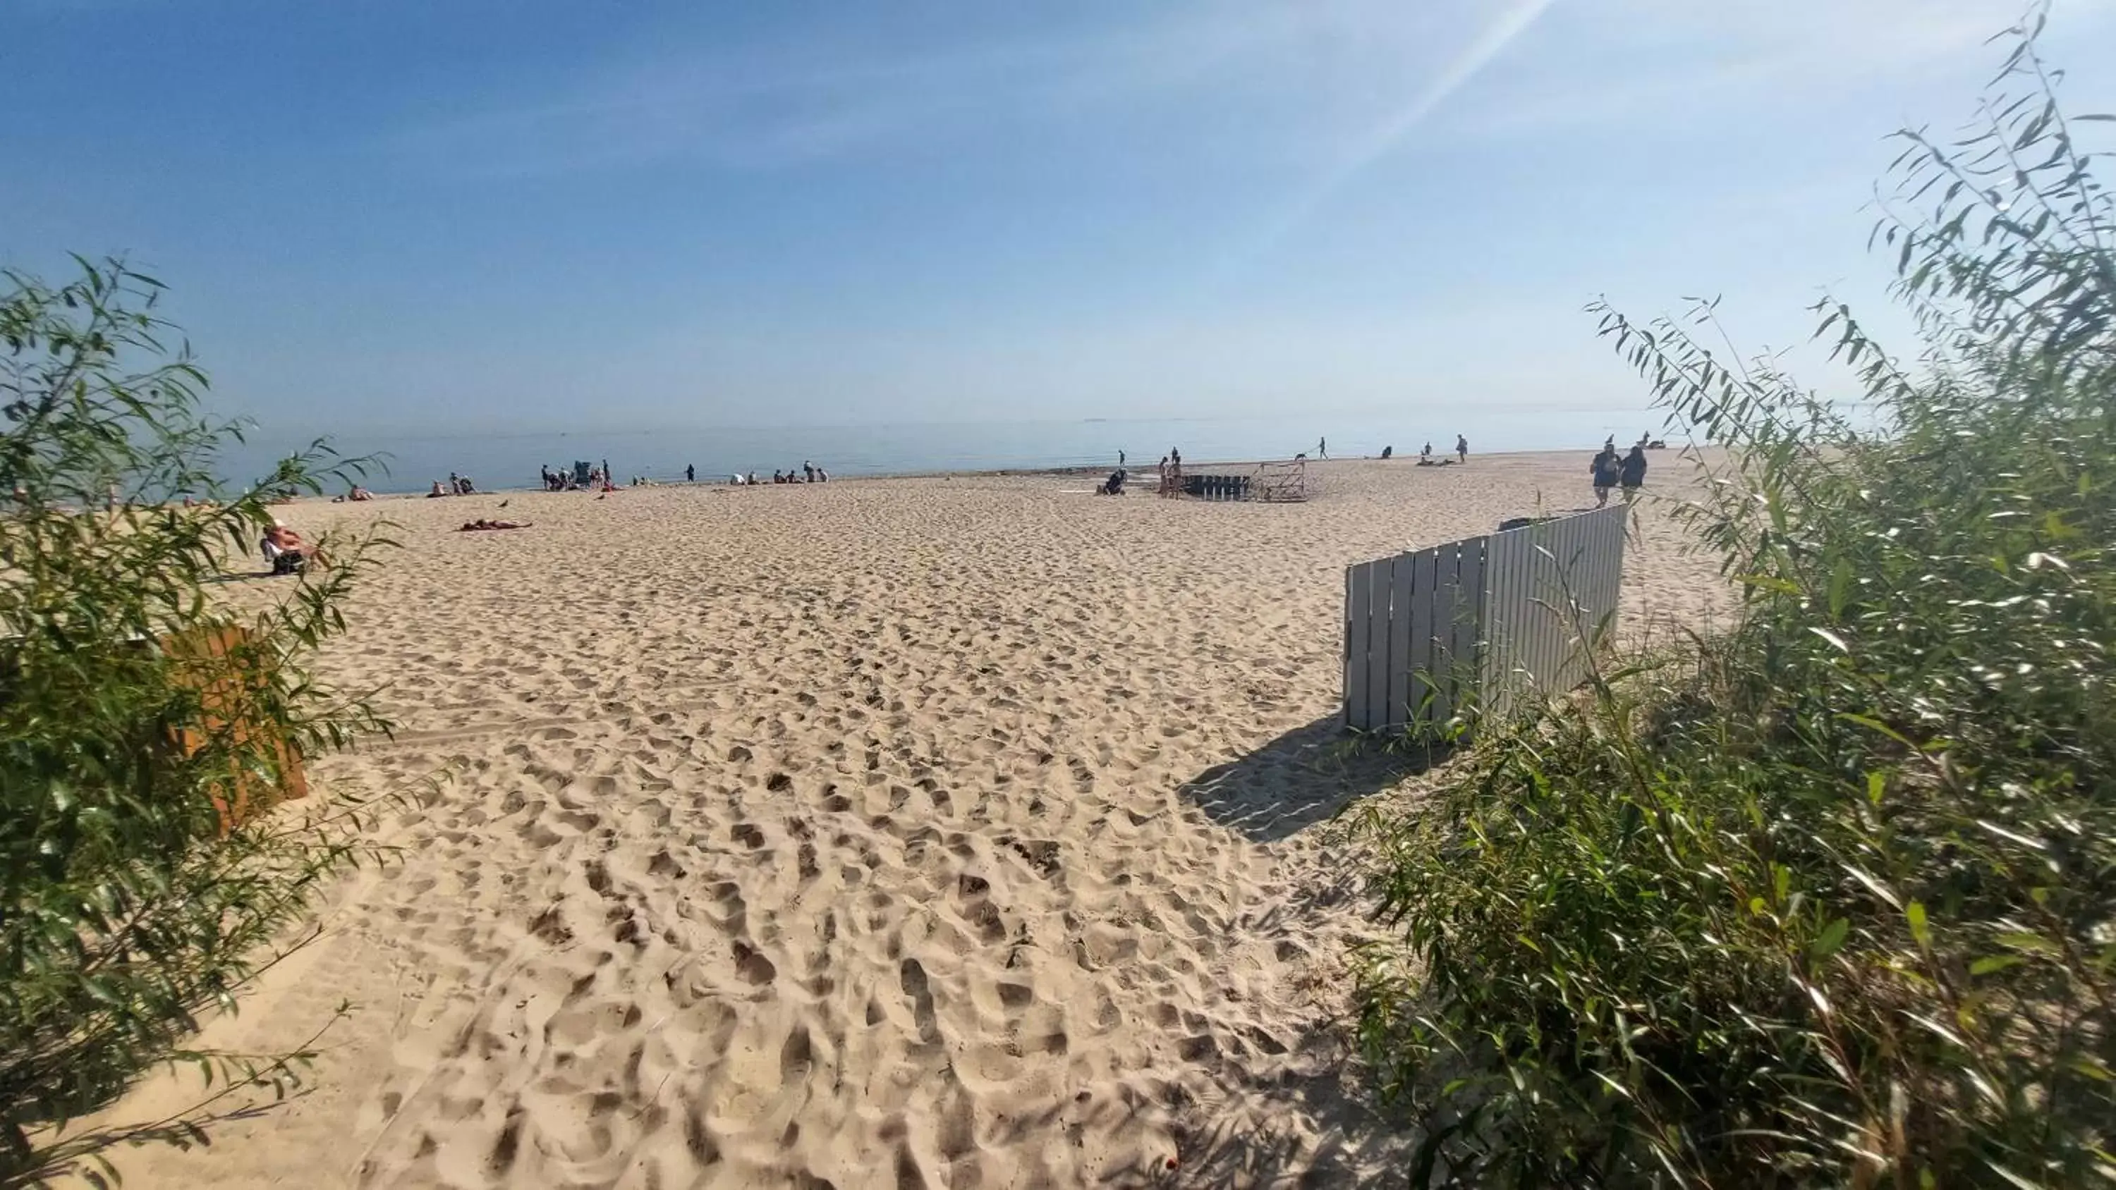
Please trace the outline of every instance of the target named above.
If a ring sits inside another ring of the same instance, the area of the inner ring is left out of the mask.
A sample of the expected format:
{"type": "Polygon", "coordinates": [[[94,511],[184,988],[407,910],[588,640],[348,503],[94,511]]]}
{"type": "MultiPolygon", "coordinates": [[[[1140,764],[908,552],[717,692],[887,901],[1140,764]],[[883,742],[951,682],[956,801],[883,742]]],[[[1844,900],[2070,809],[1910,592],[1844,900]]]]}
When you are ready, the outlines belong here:
{"type": "MultiPolygon", "coordinates": [[[[459,776],[203,1042],[315,1091],[133,1186],[1350,1184],[1365,936],[1329,816],[1344,566],[1591,503],[1587,454],[1320,463],[1303,505],[1088,476],[303,503],[398,522],[328,678],[459,776]],[[506,499],[508,507],[497,509],[506,499]],[[472,518],[535,522],[453,533],[472,518]],[[1306,1182],[1303,1182],[1306,1179],[1306,1182]]],[[[1725,615],[1655,457],[1623,630],[1725,615]]],[[[1204,469],[1204,467],[1193,467],[1204,469]]],[[[267,583],[252,583],[252,590],[267,583]]],[[[286,590],[286,588],[284,588],[286,590]]],[[[148,1080],[114,1118],[167,1110],[148,1080]]]]}

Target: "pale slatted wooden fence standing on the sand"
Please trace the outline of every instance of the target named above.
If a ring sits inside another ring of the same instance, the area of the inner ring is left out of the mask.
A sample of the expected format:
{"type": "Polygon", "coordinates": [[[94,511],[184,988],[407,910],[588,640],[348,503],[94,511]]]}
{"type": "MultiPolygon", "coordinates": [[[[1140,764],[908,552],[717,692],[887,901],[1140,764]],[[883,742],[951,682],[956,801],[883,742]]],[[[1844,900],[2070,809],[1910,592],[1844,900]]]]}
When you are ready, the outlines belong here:
{"type": "Polygon", "coordinates": [[[1617,611],[1623,531],[1610,505],[1348,566],[1346,725],[1435,733],[1579,685],[1617,611]]]}

